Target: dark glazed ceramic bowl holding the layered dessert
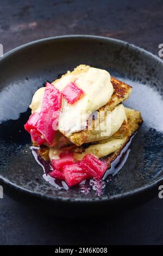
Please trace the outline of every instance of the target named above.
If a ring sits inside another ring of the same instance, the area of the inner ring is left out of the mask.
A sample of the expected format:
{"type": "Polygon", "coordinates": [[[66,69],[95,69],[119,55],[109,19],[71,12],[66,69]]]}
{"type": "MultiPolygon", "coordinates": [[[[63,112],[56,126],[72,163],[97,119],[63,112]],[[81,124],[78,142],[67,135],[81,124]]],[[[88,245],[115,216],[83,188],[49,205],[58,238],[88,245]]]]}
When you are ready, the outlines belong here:
{"type": "Polygon", "coordinates": [[[58,216],[108,215],[149,200],[163,184],[163,62],[134,45],[99,36],[47,38],[16,48],[0,58],[0,181],[4,192],[58,216]],[[79,64],[106,69],[133,86],[124,105],[142,113],[121,170],[107,178],[102,195],[79,187],[59,190],[42,178],[24,131],[36,89],[79,64]]]}

